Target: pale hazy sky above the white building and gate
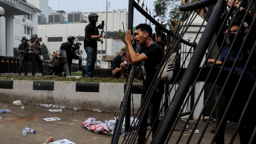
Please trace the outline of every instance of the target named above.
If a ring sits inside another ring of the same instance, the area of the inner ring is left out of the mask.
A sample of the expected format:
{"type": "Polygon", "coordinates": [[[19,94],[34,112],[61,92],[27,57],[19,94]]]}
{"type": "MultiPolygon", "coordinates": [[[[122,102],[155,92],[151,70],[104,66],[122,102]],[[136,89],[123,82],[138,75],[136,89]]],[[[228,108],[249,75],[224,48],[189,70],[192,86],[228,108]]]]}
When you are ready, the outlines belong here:
{"type": "MultiPolygon", "coordinates": [[[[144,10],[146,5],[151,12],[151,16],[153,16],[154,10],[154,1],[155,0],[144,0],[144,10]]],[[[108,11],[118,10],[120,8],[125,8],[128,12],[128,4],[129,0],[48,0],[48,6],[50,6],[53,10],[64,10],[65,12],[93,12],[93,11],[106,11],[107,2],[110,3],[110,8],[108,11]]],[[[136,0],[137,2],[137,0],[136,0]]],[[[141,6],[143,0],[140,0],[139,5],[141,6]]],[[[140,23],[145,23],[146,18],[142,16],[135,8],[134,8],[134,20],[133,26],[136,26],[140,23]]],[[[149,24],[149,21],[147,20],[149,24]]],[[[152,25],[151,25],[152,26],[152,25]]],[[[154,28],[154,26],[152,26],[154,28]]],[[[154,29],[153,29],[154,30],[154,29]]]]}

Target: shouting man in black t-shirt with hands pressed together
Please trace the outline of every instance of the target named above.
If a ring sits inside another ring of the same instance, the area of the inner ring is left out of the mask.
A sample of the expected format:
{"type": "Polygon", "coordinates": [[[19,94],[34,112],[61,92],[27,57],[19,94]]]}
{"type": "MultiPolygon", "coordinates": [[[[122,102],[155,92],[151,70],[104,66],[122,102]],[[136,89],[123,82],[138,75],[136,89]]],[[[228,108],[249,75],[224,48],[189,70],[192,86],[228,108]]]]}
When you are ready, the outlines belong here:
{"type": "MultiPolygon", "coordinates": [[[[159,64],[164,58],[164,50],[154,42],[152,39],[152,28],[148,24],[139,24],[136,26],[135,40],[141,46],[140,51],[136,53],[132,47],[132,32],[128,30],[125,36],[127,59],[129,64],[142,63],[143,74],[143,90],[141,94],[140,105],[146,105],[147,91],[152,89],[150,84],[157,73],[156,65],[159,64]]],[[[148,126],[148,116],[150,120],[150,127],[152,129],[152,137],[156,133],[159,126],[158,112],[162,96],[164,94],[164,82],[159,82],[157,90],[152,94],[149,104],[146,107],[146,113],[143,117],[139,118],[142,124],[138,130],[138,144],[144,144],[146,141],[146,132],[148,126]],[[156,120],[155,124],[154,121],[156,120]],[[154,124],[154,125],[153,125],[154,124]]],[[[141,112],[142,114],[142,112],[141,112]]]]}

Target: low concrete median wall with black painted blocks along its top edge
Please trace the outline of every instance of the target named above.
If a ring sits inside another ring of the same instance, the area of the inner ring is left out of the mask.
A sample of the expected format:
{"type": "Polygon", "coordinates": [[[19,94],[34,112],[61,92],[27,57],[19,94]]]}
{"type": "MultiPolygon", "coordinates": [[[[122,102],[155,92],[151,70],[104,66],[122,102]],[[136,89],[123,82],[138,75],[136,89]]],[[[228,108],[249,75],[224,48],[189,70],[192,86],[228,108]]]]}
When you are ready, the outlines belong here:
{"type": "MultiPolygon", "coordinates": [[[[134,111],[140,106],[142,84],[133,84],[134,111]]],[[[0,80],[0,100],[23,104],[55,104],[106,112],[120,112],[124,83],[0,80]]]]}

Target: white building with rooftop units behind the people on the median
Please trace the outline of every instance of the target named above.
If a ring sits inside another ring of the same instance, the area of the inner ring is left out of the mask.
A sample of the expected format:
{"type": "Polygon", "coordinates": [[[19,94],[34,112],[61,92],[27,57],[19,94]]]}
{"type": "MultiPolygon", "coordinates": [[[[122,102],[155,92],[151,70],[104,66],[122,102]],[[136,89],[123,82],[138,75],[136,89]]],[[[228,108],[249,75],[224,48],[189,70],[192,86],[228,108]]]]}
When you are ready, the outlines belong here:
{"type": "MultiPolygon", "coordinates": [[[[88,20],[91,12],[70,12],[60,10],[60,13],[48,6],[48,0],[0,0],[4,8],[4,15],[0,17],[0,56],[13,56],[13,48],[21,43],[22,36],[30,39],[32,33],[37,33],[42,38],[48,51],[52,53],[66,42],[68,36],[77,36],[84,49],[84,28],[88,23],[81,23],[82,19],[88,20]]],[[[98,24],[104,20],[104,32],[107,31],[104,43],[98,42],[98,59],[102,54],[116,55],[120,52],[123,42],[112,37],[111,32],[127,30],[128,12],[121,8],[107,12],[95,12],[99,15],[98,24]],[[106,21],[107,20],[107,21],[106,21]]],[[[86,54],[83,50],[83,57],[86,54]]]]}

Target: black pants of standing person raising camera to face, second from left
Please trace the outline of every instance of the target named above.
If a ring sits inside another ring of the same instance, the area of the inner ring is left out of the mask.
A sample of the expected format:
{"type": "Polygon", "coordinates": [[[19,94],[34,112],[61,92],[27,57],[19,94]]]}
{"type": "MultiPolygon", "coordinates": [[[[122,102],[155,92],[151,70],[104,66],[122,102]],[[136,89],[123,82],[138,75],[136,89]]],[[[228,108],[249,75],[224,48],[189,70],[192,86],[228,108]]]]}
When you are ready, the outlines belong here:
{"type": "Polygon", "coordinates": [[[38,54],[29,54],[30,62],[32,64],[32,76],[35,76],[36,74],[36,68],[38,66],[41,74],[43,74],[43,66],[42,66],[42,60],[40,59],[38,54]]]}

